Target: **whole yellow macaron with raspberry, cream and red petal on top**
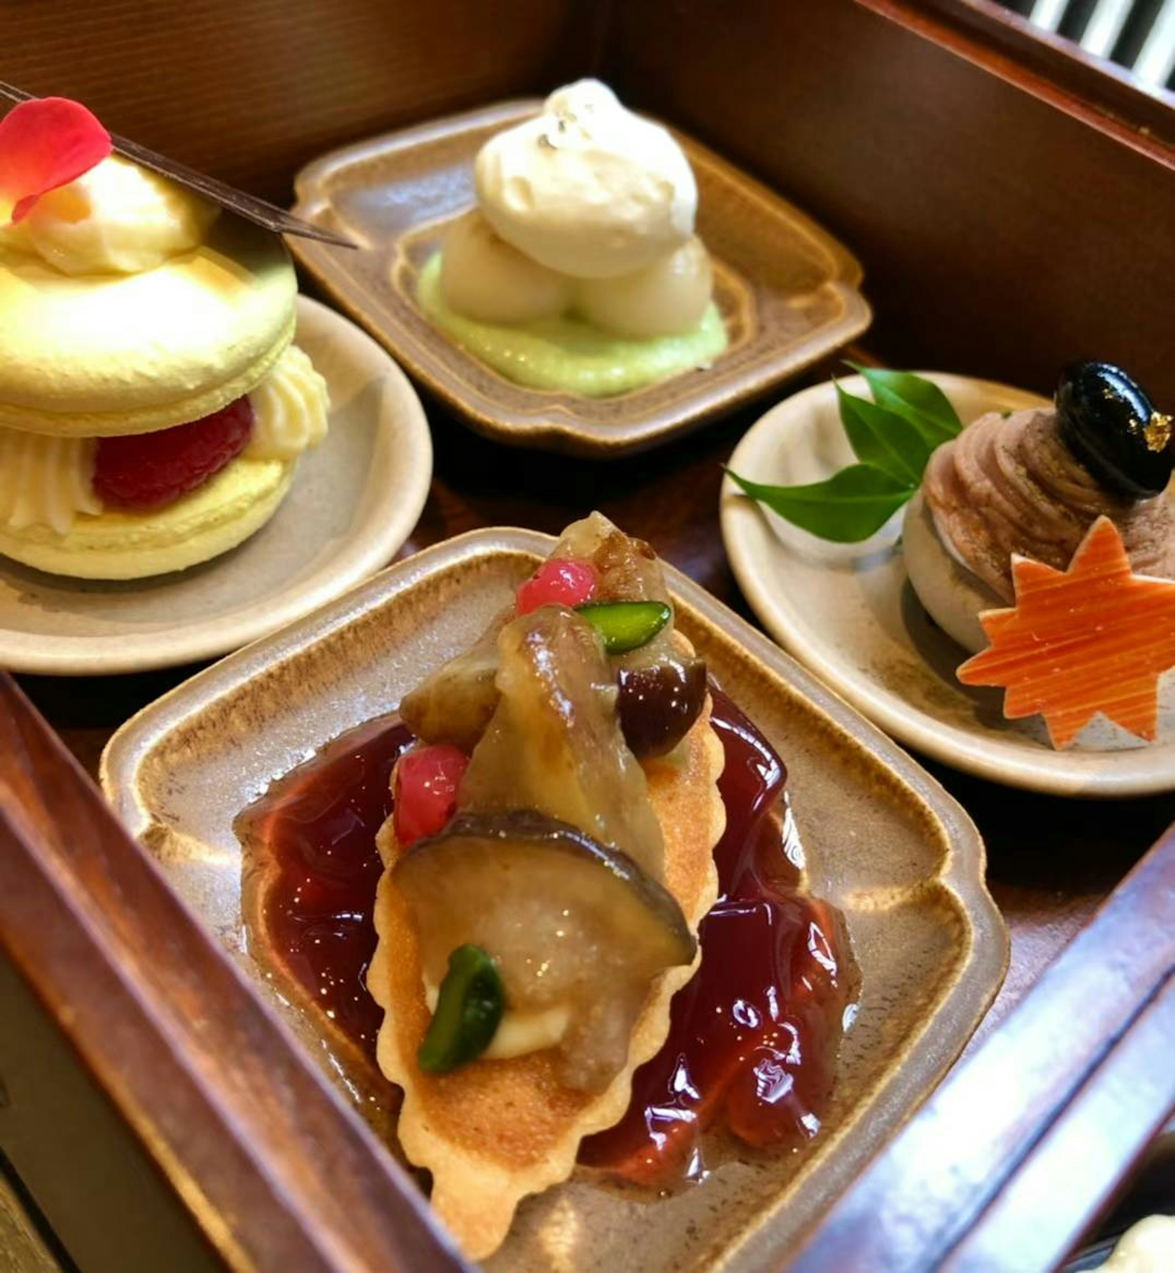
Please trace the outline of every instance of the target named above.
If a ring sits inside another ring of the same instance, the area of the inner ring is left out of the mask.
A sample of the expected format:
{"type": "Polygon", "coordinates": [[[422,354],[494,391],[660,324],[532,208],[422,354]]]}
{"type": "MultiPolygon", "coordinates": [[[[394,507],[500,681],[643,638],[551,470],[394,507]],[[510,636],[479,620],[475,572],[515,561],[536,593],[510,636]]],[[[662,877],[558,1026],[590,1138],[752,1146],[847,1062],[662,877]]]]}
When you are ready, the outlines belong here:
{"type": "Polygon", "coordinates": [[[0,554],[132,579],[236,547],[327,429],[279,236],[112,153],[85,107],[0,121],[0,554]]]}

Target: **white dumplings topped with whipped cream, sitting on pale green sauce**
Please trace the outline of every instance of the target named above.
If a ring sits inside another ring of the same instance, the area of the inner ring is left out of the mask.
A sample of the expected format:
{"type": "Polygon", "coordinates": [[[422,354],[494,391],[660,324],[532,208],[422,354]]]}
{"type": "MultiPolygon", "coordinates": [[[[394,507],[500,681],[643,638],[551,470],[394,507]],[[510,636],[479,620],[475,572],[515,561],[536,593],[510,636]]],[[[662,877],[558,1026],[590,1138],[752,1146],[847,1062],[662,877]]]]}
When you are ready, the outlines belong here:
{"type": "Polygon", "coordinates": [[[425,265],[420,303],[500,374],[606,396],[726,348],[689,162],[606,85],[552,93],[481,148],[474,181],[477,206],[425,265]]]}

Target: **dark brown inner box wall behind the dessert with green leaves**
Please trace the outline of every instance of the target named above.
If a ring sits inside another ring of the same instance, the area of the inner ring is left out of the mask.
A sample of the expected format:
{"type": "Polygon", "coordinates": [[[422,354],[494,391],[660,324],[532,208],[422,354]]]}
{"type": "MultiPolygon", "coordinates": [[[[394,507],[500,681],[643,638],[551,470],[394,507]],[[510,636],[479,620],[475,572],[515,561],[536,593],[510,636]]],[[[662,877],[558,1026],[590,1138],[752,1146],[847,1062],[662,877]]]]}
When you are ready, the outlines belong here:
{"type": "Polygon", "coordinates": [[[892,365],[1050,392],[1105,358],[1175,402],[1175,150],[1143,154],[877,6],[938,4],[645,0],[616,8],[606,65],[857,253],[892,365]]]}

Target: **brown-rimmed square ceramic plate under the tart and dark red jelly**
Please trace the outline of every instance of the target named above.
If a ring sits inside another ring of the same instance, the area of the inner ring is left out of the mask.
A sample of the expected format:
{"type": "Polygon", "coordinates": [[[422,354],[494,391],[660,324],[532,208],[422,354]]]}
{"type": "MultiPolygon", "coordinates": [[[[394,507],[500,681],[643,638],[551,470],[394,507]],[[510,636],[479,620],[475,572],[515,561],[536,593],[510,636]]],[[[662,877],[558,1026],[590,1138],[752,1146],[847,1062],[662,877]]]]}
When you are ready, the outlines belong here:
{"type": "MultiPolygon", "coordinates": [[[[377,1130],[390,1090],[321,1009],[276,988],[250,948],[233,819],[345,729],[392,710],[466,645],[552,540],[479,531],[362,584],[146,708],[102,780],[176,891],[377,1130]]],[[[670,572],[679,622],[789,769],[811,885],[848,918],[862,971],[824,1134],[806,1153],[729,1162],[668,1198],[573,1178],[519,1209],[494,1269],[749,1269],[787,1250],[931,1091],[1003,978],[1007,933],[979,836],[880,731],[724,606],[670,572]]],[[[314,1146],[307,1144],[307,1153],[314,1146]]],[[[345,1204],[345,1203],[344,1203],[345,1204]]]]}

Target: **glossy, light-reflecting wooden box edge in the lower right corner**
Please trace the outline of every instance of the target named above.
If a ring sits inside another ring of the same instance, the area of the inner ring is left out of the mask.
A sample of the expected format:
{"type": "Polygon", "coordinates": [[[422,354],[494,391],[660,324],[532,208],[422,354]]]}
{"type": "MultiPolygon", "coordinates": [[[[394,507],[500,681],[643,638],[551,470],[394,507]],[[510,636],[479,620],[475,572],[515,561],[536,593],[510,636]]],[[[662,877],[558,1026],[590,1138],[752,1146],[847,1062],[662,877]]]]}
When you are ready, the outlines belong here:
{"type": "Polygon", "coordinates": [[[1175,826],[788,1273],[1055,1268],[1175,1109],[1175,826]]]}

